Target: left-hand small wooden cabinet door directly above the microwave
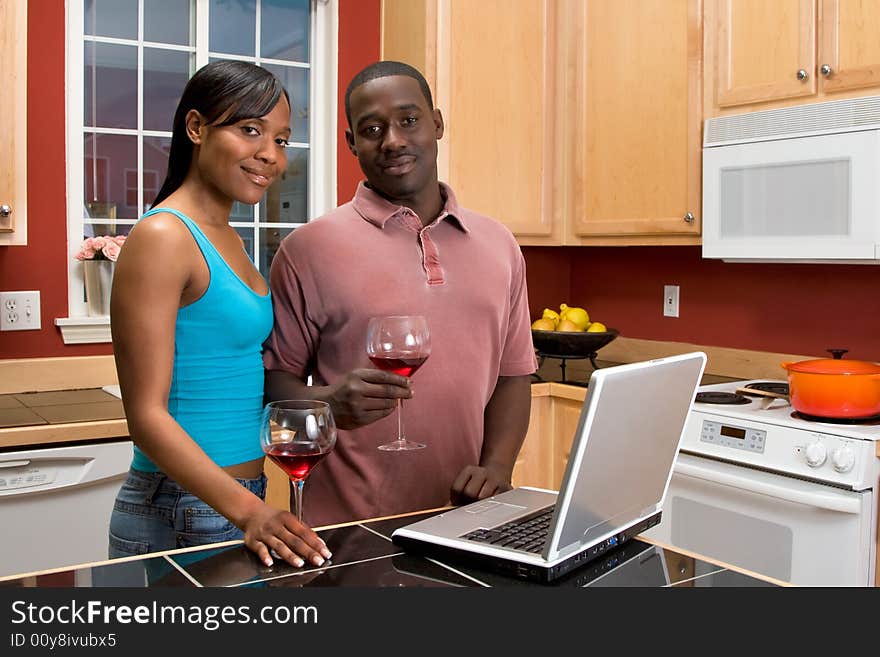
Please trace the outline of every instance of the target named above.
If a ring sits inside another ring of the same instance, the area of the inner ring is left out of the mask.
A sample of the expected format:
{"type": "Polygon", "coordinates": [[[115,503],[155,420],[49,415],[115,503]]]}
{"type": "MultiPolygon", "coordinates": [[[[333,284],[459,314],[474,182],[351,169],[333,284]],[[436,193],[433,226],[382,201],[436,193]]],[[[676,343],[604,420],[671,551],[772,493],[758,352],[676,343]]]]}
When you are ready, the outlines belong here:
{"type": "Polygon", "coordinates": [[[708,0],[715,105],[816,93],[816,0],[708,0]]]}

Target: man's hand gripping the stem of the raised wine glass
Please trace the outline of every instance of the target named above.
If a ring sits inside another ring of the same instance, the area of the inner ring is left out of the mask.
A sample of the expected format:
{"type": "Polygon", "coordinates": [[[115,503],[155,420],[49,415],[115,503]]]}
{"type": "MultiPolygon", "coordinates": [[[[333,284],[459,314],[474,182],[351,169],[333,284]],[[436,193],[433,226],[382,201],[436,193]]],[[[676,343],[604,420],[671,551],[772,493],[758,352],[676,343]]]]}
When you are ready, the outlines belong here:
{"type": "Polygon", "coordinates": [[[398,399],[412,397],[405,376],[369,368],[352,370],[330,386],[327,401],[340,429],[357,429],[389,415],[398,399]]]}

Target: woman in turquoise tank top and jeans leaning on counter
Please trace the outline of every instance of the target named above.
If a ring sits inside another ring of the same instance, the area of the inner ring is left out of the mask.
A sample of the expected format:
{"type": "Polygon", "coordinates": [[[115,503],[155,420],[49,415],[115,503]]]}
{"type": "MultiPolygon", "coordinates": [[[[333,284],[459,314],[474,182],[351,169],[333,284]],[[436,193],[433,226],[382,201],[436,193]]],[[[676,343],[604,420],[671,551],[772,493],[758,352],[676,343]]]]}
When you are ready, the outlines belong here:
{"type": "Polygon", "coordinates": [[[111,295],[113,349],[135,455],[110,556],[244,538],[267,566],[321,565],[324,542],[265,504],[259,441],[266,281],[229,225],[286,168],[290,101],[266,69],[214,62],[174,115],[168,175],[128,236],[111,295]]]}

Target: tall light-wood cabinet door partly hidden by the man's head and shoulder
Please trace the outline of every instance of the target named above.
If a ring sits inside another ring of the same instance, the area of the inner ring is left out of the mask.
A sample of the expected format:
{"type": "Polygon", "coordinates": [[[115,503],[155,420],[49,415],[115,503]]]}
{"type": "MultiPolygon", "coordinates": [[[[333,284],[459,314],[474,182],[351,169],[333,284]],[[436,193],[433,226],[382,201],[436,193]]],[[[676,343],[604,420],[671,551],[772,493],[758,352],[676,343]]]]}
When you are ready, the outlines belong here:
{"type": "Polygon", "coordinates": [[[440,175],[459,202],[514,235],[554,229],[553,0],[441,0],[440,175]],[[444,175],[445,171],[445,175],[444,175]]]}

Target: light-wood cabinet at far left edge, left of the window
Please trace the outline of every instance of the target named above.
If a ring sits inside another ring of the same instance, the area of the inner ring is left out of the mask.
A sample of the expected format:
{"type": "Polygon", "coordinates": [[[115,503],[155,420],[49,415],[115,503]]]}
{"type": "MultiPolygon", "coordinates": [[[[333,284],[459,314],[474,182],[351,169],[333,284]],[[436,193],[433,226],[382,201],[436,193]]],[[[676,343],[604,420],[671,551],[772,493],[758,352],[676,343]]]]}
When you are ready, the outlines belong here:
{"type": "Polygon", "coordinates": [[[27,243],[27,2],[0,0],[0,246],[27,243]]]}

